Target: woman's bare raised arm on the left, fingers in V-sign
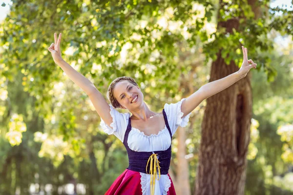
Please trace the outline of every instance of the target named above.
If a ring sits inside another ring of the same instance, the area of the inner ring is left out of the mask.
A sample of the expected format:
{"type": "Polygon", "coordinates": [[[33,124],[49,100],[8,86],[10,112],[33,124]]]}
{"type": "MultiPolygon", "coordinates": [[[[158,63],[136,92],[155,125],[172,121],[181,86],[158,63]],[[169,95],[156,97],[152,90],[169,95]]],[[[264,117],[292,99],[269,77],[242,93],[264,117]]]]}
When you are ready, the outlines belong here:
{"type": "Polygon", "coordinates": [[[62,34],[60,33],[57,39],[57,34],[54,33],[55,43],[52,43],[50,47],[48,47],[54,62],[60,66],[66,75],[88,95],[99,116],[110,126],[112,123],[112,117],[110,115],[110,106],[105,98],[88,78],[85,78],[62,59],[60,50],[61,37],[62,34]]]}

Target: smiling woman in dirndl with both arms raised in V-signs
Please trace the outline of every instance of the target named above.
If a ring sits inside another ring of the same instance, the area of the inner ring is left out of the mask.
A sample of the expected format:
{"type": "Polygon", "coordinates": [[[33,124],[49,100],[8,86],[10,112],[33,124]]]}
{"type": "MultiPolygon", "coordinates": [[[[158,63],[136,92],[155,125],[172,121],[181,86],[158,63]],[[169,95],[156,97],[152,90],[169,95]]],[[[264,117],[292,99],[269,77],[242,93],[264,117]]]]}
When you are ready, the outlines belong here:
{"type": "Polygon", "coordinates": [[[116,78],[110,84],[109,105],[94,84],[66,63],[60,52],[61,34],[48,50],[56,64],[89,96],[101,117],[105,133],[114,134],[126,147],[128,168],[114,181],[106,195],[175,195],[168,169],[171,158],[171,140],[178,126],[185,127],[193,109],[204,99],[219,93],[244,78],[256,64],[247,58],[242,46],[243,63],[239,71],[202,86],[198,91],[173,104],[165,104],[160,113],[149,110],[144,95],[133,78],[116,78]],[[252,65],[250,65],[250,63],[252,65]],[[115,108],[127,109],[119,113],[115,108]]]}

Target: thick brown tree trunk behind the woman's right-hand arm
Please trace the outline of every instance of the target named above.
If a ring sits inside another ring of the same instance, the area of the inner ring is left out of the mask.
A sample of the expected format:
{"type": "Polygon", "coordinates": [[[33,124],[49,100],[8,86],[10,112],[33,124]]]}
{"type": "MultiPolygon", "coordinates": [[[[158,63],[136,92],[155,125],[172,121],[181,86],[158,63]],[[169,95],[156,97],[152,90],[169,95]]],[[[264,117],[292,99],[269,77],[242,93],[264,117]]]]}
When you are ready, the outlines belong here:
{"type": "MultiPolygon", "coordinates": [[[[249,0],[249,4],[254,5],[255,1],[249,0]]],[[[238,19],[218,23],[218,27],[225,27],[230,34],[232,28],[237,30],[238,26],[238,19]]],[[[209,82],[238,70],[234,61],[229,65],[225,63],[220,51],[212,63],[209,82]]],[[[195,195],[244,194],[252,116],[250,80],[251,74],[248,73],[245,78],[207,99],[195,195]]]]}

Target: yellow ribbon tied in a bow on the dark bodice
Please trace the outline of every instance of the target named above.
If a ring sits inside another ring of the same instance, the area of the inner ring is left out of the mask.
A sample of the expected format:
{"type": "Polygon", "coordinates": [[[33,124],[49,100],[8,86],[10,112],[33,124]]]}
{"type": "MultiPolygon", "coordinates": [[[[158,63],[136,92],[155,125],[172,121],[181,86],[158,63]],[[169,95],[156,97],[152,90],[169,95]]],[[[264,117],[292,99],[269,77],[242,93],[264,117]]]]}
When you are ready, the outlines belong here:
{"type": "Polygon", "coordinates": [[[150,174],[150,195],[154,195],[155,193],[155,179],[160,180],[161,178],[161,171],[160,171],[160,161],[158,160],[157,154],[152,154],[149,156],[146,164],[146,174],[150,174]],[[149,165],[149,173],[147,173],[147,165],[148,162],[150,161],[149,165]],[[153,166],[154,164],[154,166],[153,166]],[[158,167],[158,172],[159,172],[159,177],[157,174],[157,167],[158,167]]]}

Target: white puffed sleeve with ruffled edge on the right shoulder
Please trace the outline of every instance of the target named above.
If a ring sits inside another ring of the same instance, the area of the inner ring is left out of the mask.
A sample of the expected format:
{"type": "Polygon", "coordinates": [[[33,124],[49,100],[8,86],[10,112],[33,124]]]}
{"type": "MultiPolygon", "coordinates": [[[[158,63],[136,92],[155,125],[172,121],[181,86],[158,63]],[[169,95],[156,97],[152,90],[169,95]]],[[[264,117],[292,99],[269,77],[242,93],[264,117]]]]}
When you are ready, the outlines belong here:
{"type": "Polygon", "coordinates": [[[185,127],[188,124],[189,113],[187,116],[181,118],[183,116],[183,112],[181,112],[181,104],[185,100],[185,98],[181,99],[177,103],[170,103],[164,105],[164,110],[167,115],[168,123],[171,129],[172,136],[175,134],[177,128],[179,126],[185,127]]]}

